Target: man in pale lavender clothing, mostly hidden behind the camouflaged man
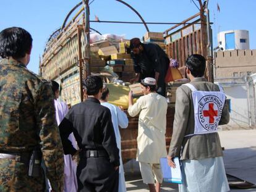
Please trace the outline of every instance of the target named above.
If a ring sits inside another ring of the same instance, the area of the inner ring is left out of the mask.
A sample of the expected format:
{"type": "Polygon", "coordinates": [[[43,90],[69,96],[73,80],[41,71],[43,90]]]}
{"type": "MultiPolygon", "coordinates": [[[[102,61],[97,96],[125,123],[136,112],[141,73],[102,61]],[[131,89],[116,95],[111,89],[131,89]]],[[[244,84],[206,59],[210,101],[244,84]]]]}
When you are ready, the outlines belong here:
{"type": "MultiPolygon", "coordinates": [[[[58,125],[64,119],[69,108],[65,102],[58,101],[59,98],[59,84],[56,81],[51,81],[53,85],[53,92],[55,94],[54,106],[56,109],[56,121],[58,125]]],[[[77,144],[74,138],[73,133],[69,135],[69,140],[72,142],[72,145],[76,148],[77,144]]],[[[77,164],[72,160],[70,155],[64,155],[64,192],[76,192],[77,191],[77,164]]]]}

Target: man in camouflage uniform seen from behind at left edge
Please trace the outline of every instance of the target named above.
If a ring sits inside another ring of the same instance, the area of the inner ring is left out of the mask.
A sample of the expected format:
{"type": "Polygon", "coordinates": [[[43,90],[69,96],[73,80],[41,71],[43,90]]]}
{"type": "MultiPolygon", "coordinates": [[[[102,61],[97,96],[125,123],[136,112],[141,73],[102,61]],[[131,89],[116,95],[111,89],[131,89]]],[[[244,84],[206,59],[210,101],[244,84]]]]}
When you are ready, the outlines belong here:
{"type": "Polygon", "coordinates": [[[45,178],[28,176],[40,146],[53,191],[63,190],[64,159],[51,85],[26,65],[32,37],[22,28],[0,32],[0,191],[44,191],[45,178]]]}

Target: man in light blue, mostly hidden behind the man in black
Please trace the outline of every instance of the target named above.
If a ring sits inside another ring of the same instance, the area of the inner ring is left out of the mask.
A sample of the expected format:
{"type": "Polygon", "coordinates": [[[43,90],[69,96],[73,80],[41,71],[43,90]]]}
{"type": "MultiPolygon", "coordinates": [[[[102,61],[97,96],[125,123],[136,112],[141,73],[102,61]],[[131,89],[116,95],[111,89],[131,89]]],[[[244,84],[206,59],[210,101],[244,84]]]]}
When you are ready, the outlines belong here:
{"type": "Polygon", "coordinates": [[[103,93],[100,99],[101,105],[108,107],[111,112],[112,123],[114,127],[114,133],[116,135],[116,144],[119,149],[120,156],[120,166],[119,166],[119,192],[126,192],[126,180],[124,178],[124,167],[122,165],[122,156],[121,156],[121,135],[119,131],[119,127],[127,128],[128,127],[128,118],[124,113],[122,107],[114,106],[108,102],[109,98],[109,90],[106,88],[106,85],[103,86],[103,93]]]}

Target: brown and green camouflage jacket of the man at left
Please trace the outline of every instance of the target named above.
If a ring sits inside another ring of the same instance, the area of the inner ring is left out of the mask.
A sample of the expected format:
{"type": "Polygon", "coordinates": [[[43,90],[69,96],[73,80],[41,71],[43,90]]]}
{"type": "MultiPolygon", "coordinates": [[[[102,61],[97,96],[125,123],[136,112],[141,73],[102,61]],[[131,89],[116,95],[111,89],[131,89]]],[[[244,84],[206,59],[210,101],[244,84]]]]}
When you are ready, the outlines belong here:
{"type": "Polygon", "coordinates": [[[48,81],[13,59],[0,62],[0,151],[32,151],[40,144],[46,176],[62,191],[64,153],[48,81]]]}

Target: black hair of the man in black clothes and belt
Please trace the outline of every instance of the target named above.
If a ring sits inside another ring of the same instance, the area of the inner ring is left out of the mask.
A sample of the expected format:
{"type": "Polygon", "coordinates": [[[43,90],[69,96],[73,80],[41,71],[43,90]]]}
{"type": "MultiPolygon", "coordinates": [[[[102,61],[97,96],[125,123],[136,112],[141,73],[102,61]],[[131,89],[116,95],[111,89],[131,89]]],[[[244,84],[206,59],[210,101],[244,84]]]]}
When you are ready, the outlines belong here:
{"type": "Polygon", "coordinates": [[[89,75],[83,80],[83,87],[86,88],[88,95],[95,95],[103,88],[103,81],[98,75],[89,75]]]}

